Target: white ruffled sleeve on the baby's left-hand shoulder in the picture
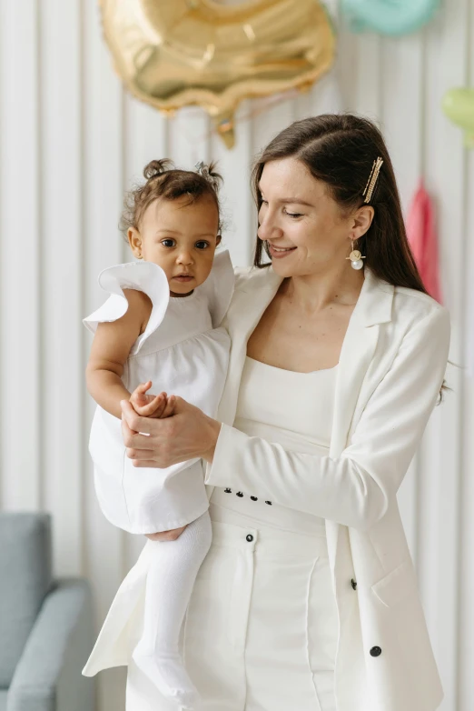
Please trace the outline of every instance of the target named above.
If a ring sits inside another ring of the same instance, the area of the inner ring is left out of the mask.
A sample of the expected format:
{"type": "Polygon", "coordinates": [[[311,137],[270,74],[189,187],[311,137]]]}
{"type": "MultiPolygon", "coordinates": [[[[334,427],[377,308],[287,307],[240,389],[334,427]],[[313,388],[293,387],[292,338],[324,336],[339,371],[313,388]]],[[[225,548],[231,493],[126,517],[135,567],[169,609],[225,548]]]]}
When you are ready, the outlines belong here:
{"type": "Polygon", "coordinates": [[[83,320],[84,325],[93,333],[98,324],[116,321],[126,314],[128,301],[123,289],[136,289],[149,296],[152,313],[143,334],[133,346],[133,354],[138,353],[144,341],[162,323],[168,308],[170,287],[163,269],[153,262],[128,262],[104,269],[98,281],[100,287],[110,295],[100,308],[83,320]]]}

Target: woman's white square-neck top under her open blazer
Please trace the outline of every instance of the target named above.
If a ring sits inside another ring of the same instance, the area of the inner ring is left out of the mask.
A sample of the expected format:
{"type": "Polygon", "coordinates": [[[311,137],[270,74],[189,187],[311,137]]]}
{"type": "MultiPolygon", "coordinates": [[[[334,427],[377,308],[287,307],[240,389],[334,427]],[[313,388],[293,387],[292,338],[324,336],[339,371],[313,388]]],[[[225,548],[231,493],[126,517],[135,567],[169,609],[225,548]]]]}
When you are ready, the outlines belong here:
{"type": "MultiPolygon", "coordinates": [[[[338,366],[296,373],[248,356],[242,371],[234,427],[290,452],[329,455],[338,366]]],[[[325,536],[324,519],[279,506],[272,496],[215,487],[211,504],[252,516],[268,526],[325,536]]]]}

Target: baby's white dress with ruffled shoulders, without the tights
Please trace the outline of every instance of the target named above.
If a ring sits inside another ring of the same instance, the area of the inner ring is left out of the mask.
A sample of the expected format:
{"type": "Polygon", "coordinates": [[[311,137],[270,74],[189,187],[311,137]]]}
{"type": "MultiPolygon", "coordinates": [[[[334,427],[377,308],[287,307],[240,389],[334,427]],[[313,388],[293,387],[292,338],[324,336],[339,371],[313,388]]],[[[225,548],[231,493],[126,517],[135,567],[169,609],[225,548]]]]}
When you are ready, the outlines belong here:
{"type": "MultiPolygon", "coordinates": [[[[140,383],[152,380],[151,393],[181,396],[215,416],[231,345],[220,325],[233,283],[227,250],[215,255],[211,274],[189,296],[171,297],[163,269],[152,262],[112,266],[99,275],[109,298],[84,324],[94,332],[99,323],[115,321],[128,308],[123,289],[143,291],[152,301],[152,313],[133,344],[123,385],[133,392],[140,383]]],[[[200,459],[166,469],[134,467],[125,454],[121,421],[100,406],[95,410],[89,451],[97,498],[114,526],[133,534],[156,533],[189,524],[209,507],[200,459]]]]}

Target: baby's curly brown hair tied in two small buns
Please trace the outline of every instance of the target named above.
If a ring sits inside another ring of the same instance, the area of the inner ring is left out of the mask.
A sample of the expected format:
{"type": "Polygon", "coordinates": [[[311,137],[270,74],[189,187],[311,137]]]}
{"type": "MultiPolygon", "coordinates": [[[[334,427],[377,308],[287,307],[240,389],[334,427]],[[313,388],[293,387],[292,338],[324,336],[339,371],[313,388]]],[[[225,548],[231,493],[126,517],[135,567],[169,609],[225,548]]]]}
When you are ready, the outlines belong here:
{"type": "MultiPolygon", "coordinates": [[[[120,230],[125,239],[131,227],[139,229],[146,208],[158,197],[165,200],[177,200],[183,195],[189,195],[188,205],[199,200],[202,195],[211,195],[217,207],[219,218],[219,234],[221,234],[221,205],[219,188],[222,175],[215,172],[215,163],[200,164],[199,172],[180,170],[174,167],[168,158],[153,160],[145,165],[143,176],[146,183],[137,185],[125,194],[123,213],[120,220],[120,230]]],[[[128,240],[127,240],[128,241],[128,240]]]]}

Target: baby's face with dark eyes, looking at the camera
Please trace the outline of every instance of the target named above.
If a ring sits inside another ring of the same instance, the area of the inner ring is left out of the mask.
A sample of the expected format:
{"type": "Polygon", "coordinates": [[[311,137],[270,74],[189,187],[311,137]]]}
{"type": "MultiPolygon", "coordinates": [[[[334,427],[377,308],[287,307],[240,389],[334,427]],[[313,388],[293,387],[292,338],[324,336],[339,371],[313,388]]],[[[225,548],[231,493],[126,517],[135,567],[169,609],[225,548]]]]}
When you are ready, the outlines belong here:
{"type": "Polygon", "coordinates": [[[135,256],[162,267],[172,296],[190,294],[209,276],[218,235],[219,215],[211,195],[189,204],[159,198],[147,207],[140,230],[129,230],[135,256]]]}

